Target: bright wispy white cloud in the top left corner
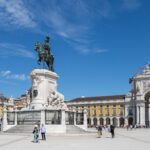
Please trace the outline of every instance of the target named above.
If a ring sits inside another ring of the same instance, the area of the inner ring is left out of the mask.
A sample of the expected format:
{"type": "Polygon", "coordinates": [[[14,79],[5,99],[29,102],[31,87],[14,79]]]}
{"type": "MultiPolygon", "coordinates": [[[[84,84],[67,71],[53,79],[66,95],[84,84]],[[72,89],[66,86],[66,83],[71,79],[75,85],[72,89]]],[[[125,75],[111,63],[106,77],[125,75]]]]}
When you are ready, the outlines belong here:
{"type": "Polygon", "coordinates": [[[33,15],[22,0],[0,0],[0,9],[0,22],[3,25],[29,28],[36,26],[33,15]]]}

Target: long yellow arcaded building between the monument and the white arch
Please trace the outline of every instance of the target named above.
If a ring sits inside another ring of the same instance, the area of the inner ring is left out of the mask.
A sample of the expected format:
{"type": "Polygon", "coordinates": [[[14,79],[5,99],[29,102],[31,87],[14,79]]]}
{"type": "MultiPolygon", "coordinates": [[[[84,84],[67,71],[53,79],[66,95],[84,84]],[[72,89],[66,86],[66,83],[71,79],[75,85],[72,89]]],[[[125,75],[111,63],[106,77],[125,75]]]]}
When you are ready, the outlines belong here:
{"type": "Polygon", "coordinates": [[[66,101],[69,110],[87,111],[89,127],[114,124],[116,127],[125,124],[125,95],[82,97],[66,101]]]}

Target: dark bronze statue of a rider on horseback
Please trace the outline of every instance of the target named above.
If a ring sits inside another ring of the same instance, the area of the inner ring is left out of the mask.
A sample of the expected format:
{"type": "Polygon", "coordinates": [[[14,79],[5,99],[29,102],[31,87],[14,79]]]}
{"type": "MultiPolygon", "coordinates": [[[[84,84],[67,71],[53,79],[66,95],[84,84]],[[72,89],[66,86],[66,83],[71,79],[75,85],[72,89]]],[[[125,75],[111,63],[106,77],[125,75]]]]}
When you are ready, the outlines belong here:
{"type": "Polygon", "coordinates": [[[54,71],[54,56],[51,54],[49,37],[45,38],[45,43],[42,45],[39,42],[35,43],[35,50],[38,52],[38,64],[45,62],[49,70],[54,71]]]}

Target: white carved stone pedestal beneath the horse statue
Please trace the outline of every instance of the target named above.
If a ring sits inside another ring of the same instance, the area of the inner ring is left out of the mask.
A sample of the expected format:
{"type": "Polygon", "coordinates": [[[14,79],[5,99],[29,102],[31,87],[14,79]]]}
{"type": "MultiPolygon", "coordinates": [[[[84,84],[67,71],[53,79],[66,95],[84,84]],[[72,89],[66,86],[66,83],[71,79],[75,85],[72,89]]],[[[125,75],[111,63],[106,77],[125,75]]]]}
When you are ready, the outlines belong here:
{"type": "Polygon", "coordinates": [[[32,99],[30,109],[64,108],[64,96],[57,91],[58,75],[46,69],[31,72],[32,99]]]}

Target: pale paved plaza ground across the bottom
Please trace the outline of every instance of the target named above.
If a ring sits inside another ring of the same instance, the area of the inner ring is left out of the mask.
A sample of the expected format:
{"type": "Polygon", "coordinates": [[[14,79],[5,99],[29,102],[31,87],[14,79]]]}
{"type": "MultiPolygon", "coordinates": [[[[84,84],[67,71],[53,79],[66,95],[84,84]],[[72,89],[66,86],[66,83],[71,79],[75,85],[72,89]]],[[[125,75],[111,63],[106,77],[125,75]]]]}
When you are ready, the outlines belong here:
{"type": "Polygon", "coordinates": [[[150,150],[150,129],[116,129],[116,137],[103,132],[102,138],[96,133],[85,135],[47,135],[46,141],[32,142],[31,135],[0,133],[0,150],[150,150]]]}

